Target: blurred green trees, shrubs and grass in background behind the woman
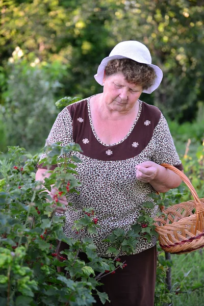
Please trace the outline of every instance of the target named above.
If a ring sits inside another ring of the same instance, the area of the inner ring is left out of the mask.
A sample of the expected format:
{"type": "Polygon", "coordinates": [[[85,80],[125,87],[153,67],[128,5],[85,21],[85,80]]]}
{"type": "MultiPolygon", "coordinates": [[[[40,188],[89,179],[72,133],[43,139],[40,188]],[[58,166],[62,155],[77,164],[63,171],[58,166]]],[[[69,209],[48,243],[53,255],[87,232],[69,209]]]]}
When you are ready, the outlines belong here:
{"type": "MultiPolygon", "coordinates": [[[[141,99],[167,118],[203,197],[203,7],[202,0],[0,0],[0,150],[39,152],[59,112],[55,101],[101,92],[93,78],[100,61],[116,43],[139,40],[164,72],[141,99]]],[[[204,305],[202,252],[171,259],[173,304],[204,305]]]]}

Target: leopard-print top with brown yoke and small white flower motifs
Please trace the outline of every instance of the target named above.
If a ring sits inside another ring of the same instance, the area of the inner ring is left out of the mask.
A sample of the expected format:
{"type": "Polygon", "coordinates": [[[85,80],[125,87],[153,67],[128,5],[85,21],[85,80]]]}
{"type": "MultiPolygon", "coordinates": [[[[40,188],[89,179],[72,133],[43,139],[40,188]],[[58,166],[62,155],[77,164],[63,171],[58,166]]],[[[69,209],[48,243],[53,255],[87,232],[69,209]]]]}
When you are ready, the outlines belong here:
{"type": "MultiPolygon", "coordinates": [[[[80,144],[83,152],[72,152],[82,163],[77,164],[75,175],[81,182],[78,193],[68,193],[64,232],[69,238],[80,238],[72,230],[75,220],[84,216],[83,209],[92,207],[98,219],[97,235],[93,235],[98,256],[108,257],[109,245],[103,239],[116,228],[126,232],[137,223],[142,203],[152,201],[149,193],[155,192],[148,183],[137,180],[135,166],[145,161],[168,163],[180,170],[182,163],[177,155],[166,119],[160,110],[139,100],[139,112],[129,133],[119,142],[107,145],[94,131],[89,105],[90,97],[69,105],[58,115],[46,145],[62,142],[80,144]]],[[[40,159],[44,158],[42,155],[40,159]]],[[[43,168],[38,163],[37,167],[43,168]]],[[[146,209],[154,217],[155,210],[146,209]]],[[[144,235],[138,239],[133,254],[156,244],[156,237],[148,242],[144,235]]],[[[125,254],[125,252],[123,252],[125,254]]]]}

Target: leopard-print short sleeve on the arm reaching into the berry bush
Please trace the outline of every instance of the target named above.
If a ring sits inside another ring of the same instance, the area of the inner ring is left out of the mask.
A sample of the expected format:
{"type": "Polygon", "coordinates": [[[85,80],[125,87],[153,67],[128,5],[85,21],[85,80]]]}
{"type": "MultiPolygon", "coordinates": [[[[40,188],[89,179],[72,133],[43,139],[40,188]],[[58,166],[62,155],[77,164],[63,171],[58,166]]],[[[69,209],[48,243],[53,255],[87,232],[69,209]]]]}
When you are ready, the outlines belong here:
{"type": "MultiPolygon", "coordinates": [[[[62,146],[74,142],[72,137],[72,119],[67,108],[58,114],[55,123],[49,132],[45,145],[52,145],[57,142],[61,142],[62,146]]],[[[46,154],[43,153],[40,160],[45,157],[46,154]]],[[[36,167],[46,169],[43,164],[40,164],[40,160],[36,167]]],[[[51,169],[54,169],[56,166],[57,165],[54,165],[51,169]]]]}

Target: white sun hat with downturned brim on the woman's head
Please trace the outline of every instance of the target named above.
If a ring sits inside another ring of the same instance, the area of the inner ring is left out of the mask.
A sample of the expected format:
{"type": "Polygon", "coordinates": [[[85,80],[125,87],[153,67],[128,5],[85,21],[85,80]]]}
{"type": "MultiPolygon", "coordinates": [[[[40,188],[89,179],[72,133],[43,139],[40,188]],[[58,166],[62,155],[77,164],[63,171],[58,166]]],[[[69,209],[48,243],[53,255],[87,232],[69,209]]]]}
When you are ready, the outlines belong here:
{"type": "Polygon", "coordinates": [[[154,68],[157,75],[155,83],[149,88],[144,89],[143,92],[152,93],[152,91],[158,88],[163,78],[163,72],[158,66],[151,64],[151,55],[148,48],[143,43],[135,40],[119,42],[113,48],[110,55],[103,59],[98,66],[97,74],[94,75],[96,82],[103,85],[104,70],[109,61],[124,58],[134,60],[138,63],[147,64],[148,66],[154,68]]]}

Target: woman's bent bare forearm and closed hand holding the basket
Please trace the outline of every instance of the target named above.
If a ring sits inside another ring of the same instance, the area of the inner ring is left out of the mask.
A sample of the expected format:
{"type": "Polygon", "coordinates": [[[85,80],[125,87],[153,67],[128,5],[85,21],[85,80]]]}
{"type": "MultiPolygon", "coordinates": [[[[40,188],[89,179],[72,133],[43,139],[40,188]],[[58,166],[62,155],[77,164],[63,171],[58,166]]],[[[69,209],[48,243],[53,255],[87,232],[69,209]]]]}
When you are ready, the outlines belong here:
{"type": "Polygon", "coordinates": [[[136,177],[139,181],[149,183],[158,192],[167,192],[178,187],[182,179],[173,171],[154,162],[144,162],[136,166],[136,177]]]}

